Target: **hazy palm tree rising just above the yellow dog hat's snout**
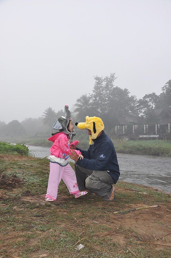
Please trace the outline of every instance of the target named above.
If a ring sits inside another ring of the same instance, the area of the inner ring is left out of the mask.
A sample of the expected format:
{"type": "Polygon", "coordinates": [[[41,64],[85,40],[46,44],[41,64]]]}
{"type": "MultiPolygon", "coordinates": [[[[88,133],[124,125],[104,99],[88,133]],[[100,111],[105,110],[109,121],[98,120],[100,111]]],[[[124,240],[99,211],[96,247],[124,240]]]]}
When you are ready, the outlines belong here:
{"type": "Polygon", "coordinates": [[[92,97],[87,94],[82,95],[76,100],[77,103],[74,105],[75,109],[73,113],[76,114],[78,121],[85,120],[86,116],[93,116],[92,114],[92,97]]]}

